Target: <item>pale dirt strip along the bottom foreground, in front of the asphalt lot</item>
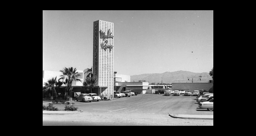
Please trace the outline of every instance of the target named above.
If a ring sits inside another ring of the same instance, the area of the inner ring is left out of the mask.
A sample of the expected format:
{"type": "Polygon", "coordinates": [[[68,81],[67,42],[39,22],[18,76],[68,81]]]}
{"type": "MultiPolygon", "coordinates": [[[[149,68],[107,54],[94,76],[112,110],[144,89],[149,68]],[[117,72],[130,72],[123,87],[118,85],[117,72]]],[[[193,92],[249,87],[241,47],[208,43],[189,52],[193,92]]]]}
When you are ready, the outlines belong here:
{"type": "Polygon", "coordinates": [[[43,114],[43,125],[194,125],[213,126],[213,120],[172,118],[168,114],[89,113],[43,114]]]}

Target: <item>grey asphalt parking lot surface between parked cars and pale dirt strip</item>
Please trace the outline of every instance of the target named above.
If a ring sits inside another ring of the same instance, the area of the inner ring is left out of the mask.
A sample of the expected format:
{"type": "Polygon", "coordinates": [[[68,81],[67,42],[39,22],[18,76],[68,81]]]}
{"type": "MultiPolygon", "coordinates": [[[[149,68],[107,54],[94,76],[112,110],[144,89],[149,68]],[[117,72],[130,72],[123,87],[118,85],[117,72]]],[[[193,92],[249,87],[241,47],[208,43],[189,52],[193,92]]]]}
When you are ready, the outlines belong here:
{"type": "MultiPolygon", "coordinates": [[[[74,106],[93,113],[146,113],[146,114],[189,114],[213,115],[207,109],[200,109],[196,96],[164,96],[144,94],[121,97],[110,101],[76,102],[74,106]]],[[[54,105],[64,109],[65,105],[54,105]]]]}

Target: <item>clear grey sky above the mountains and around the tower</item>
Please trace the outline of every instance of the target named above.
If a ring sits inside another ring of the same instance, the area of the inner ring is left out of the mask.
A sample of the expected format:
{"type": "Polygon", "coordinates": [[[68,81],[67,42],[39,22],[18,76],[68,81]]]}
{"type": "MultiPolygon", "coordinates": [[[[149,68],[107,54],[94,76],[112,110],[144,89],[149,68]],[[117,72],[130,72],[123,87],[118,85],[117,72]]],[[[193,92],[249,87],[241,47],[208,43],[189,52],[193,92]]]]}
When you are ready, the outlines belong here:
{"type": "Polygon", "coordinates": [[[43,11],[43,70],[93,66],[93,22],[114,23],[114,71],[213,68],[213,11],[43,11]]]}

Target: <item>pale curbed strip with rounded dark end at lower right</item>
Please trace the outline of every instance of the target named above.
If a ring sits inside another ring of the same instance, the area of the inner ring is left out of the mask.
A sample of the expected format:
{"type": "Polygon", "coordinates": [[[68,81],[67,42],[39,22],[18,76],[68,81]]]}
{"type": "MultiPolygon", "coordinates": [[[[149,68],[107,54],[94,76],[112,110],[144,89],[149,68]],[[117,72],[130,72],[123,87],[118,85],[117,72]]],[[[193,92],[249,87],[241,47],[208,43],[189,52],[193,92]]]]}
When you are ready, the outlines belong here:
{"type": "Polygon", "coordinates": [[[213,120],[213,115],[181,115],[181,114],[169,114],[173,118],[181,119],[208,119],[213,120]]]}

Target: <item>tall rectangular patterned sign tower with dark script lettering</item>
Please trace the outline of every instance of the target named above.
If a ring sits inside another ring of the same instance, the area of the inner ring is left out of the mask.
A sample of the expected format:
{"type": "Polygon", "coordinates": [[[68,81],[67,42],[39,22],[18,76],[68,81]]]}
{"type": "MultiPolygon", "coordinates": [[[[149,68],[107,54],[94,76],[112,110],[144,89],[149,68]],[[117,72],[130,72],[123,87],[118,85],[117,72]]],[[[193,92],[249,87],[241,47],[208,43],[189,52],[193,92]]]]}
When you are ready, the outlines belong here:
{"type": "Polygon", "coordinates": [[[94,21],[93,76],[98,95],[114,97],[114,23],[94,21]]]}

